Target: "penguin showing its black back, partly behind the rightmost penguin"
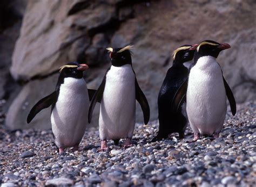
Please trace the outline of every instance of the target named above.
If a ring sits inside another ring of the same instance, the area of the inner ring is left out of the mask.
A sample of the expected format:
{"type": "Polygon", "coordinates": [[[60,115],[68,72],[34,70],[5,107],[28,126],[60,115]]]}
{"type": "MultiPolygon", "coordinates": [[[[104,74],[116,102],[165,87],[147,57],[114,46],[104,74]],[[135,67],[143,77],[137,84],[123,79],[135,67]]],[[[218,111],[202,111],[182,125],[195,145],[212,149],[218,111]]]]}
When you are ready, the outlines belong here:
{"type": "Polygon", "coordinates": [[[172,67],[167,71],[158,95],[159,131],[152,141],[165,139],[173,132],[178,132],[179,138],[184,138],[187,127],[185,97],[178,110],[172,105],[180,85],[188,77],[188,68],[184,66],[184,63],[193,59],[197,46],[197,44],[183,45],[173,52],[172,67]]]}

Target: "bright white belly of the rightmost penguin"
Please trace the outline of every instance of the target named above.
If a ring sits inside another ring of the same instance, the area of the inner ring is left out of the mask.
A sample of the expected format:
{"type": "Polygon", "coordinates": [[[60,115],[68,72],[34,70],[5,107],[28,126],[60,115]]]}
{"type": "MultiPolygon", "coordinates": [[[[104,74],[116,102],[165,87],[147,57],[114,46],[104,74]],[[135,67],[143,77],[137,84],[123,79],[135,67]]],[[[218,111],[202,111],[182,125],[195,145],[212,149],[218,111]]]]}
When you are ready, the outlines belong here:
{"type": "Polygon", "coordinates": [[[219,133],[226,116],[226,91],[219,64],[200,57],[191,69],[187,88],[187,117],[194,133],[219,133]]]}

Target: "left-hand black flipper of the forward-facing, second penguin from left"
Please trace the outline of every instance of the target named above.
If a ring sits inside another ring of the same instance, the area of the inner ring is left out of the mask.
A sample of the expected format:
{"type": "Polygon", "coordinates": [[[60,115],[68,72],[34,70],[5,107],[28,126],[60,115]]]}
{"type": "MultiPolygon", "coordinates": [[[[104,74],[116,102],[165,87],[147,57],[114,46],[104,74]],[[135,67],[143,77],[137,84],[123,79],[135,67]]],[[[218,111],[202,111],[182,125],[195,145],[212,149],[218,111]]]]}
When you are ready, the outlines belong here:
{"type": "MultiPolygon", "coordinates": [[[[107,71],[109,71],[109,70],[110,70],[110,68],[107,69],[107,71]]],[[[107,74],[107,71],[106,71],[106,74],[107,74]]],[[[95,94],[92,97],[91,104],[89,107],[89,113],[88,113],[88,122],[89,123],[91,123],[92,113],[93,113],[96,103],[97,102],[100,103],[100,101],[102,100],[102,96],[103,96],[103,92],[104,92],[105,84],[106,84],[106,74],[102,80],[102,83],[99,85],[98,90],[95,92],[95,94]]]]}

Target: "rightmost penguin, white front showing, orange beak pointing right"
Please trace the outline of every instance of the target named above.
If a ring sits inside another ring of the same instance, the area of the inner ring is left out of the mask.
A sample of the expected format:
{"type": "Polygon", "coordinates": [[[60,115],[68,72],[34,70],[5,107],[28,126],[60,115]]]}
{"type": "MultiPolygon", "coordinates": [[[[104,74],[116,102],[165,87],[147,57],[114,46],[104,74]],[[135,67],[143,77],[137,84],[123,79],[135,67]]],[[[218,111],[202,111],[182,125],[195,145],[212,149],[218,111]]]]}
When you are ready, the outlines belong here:
{"type": "Polygon", "coordinates": [[[181,86],[186,87],[187,84],[186,111],[194,141],[200,135],[213,135],[213,138],[218,138],[227,111],[226,97],[233,116],[237,111],[232,90],[216,61],[219,53],[230,47],[229,44],[212,40],[200,42],[194,53],[188,81],[181,86]]]}

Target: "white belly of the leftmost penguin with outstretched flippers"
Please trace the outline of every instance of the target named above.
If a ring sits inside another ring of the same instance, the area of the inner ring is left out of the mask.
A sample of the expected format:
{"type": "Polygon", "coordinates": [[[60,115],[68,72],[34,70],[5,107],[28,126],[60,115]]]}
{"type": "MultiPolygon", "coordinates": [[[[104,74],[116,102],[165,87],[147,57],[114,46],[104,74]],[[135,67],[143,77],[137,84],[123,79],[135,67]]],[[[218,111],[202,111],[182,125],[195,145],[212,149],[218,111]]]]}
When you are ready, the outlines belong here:
{"type": "Polygon", "coordinates": [[[73,147],[80,143],[88,110],[89,96],[84,79],[65,78],[51,114],[52,132],[58,147],[73,147]]]}

